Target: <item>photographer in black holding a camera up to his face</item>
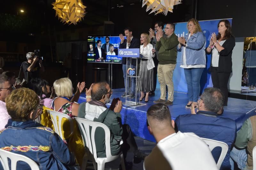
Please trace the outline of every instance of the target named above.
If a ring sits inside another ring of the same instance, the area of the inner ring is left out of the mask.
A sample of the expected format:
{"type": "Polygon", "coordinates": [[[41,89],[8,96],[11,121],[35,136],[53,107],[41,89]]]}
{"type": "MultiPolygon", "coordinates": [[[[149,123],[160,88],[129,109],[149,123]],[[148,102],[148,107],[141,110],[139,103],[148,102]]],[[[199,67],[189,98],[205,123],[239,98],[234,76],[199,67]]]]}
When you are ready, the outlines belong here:
{"type": "Polygon", "coordinates": [[[34,78],[40,78],[39,72],[44,72],[42,58],[35,56],[35,53],[33,52],[28,52],[26,57],[28,61],[22,63],[24,79],[29,81],[34,78]]]}

